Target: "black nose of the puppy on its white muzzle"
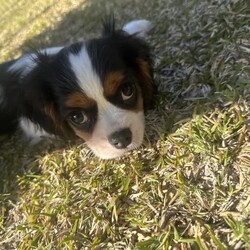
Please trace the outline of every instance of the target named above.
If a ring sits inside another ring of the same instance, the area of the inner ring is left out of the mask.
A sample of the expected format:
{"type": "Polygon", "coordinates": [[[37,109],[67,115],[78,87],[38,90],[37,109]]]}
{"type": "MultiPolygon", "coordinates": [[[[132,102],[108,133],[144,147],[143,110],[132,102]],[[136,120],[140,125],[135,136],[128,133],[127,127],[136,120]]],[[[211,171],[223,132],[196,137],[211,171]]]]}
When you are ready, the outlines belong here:
{"type": "Polygon", "coordinates": [[[132,141],[132,132],[129,128],[116,131],[108,137],[112,146],[117,149],[126,148],[132,141]]]}

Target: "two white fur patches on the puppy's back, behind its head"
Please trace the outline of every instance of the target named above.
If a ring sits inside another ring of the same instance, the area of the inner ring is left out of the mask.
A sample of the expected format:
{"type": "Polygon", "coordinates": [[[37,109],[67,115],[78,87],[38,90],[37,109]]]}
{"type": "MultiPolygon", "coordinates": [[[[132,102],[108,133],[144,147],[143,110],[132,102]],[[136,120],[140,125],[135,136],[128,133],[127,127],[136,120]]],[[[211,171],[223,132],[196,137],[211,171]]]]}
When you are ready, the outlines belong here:
{"type": "MultiPolygon", "coordinates": [[[[58,53],[62,47],[54,47],[47,48],[41,50],[41,52],[45,52],[48,55],[53,55],[58,53]]],[[[35,53],[27,54],[18,59],[13,65],[11,65],[8,69],[10,72],[21,72],[21,76],[27,75],[32,69],[35,68],[36,62],[35,59],[37,55],[35,53]]]]}

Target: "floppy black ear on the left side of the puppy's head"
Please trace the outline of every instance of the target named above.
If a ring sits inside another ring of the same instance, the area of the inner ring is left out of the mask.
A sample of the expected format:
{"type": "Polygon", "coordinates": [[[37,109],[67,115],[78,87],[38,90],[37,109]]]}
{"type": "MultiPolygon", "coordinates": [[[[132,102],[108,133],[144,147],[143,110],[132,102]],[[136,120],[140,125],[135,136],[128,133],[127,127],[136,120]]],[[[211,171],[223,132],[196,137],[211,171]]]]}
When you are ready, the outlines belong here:
{"type": "Polygon", "coordinates": [[[71,128],[60,115],[57,98],[58,74],[55,56],[37,52],[32,71],[22,82],[22,114],[47,132],[70,137],[71,128]]]}

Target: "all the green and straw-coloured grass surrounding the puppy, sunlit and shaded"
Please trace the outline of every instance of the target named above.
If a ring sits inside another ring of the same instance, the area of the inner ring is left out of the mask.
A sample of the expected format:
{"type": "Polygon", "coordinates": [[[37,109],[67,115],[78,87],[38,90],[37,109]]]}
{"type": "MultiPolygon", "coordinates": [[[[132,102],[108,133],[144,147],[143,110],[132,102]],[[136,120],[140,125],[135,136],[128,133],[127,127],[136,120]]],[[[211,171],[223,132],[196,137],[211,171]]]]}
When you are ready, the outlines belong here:
{"type": "Polygon", "coordinates": [[[1,249],[250,249],[249,3],[0,1],[0,60],[147,18],[156,105],[144,146],[0,143],[1,249]],[[6,44],[8,46],[6,46],[6,44]]]}

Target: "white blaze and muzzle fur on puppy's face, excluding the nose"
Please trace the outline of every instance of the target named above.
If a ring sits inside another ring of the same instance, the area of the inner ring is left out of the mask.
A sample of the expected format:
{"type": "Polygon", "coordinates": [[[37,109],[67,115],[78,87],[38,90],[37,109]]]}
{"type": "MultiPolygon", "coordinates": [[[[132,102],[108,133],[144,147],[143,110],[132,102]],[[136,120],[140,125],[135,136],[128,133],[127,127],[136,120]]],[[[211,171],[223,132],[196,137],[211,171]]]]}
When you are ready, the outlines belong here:
{"type": "Polygon", "coordinates": [[[103,159],[121,156],[124,152],[140,146],[144,135],[143,112],[118,108],[105,99],[101,80],[93,70],[85,47],[82,48],[79,54],[71,54],[69,61],[79,86],[98,105],[97,123],[92,137],[86,141],[87,145],[97,156],[103,159]],[[109,143],[108,136],[123,128],[130,128],[132,143],[126,149],[116,149],[109,143]]]}

